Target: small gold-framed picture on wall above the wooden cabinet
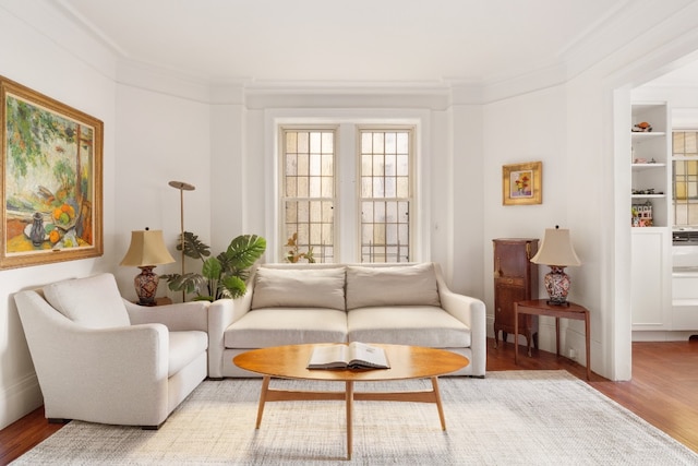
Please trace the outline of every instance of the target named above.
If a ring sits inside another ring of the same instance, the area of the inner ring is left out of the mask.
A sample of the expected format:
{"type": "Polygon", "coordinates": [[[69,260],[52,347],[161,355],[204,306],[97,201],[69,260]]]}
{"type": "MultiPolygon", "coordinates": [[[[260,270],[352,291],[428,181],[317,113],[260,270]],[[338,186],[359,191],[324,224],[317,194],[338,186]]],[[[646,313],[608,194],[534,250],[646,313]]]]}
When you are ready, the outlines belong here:
{"type": "Polygon", "coordinates": [[[529,162],[502,166],[502,204],[543,203],[543,163],[529,162]]]}

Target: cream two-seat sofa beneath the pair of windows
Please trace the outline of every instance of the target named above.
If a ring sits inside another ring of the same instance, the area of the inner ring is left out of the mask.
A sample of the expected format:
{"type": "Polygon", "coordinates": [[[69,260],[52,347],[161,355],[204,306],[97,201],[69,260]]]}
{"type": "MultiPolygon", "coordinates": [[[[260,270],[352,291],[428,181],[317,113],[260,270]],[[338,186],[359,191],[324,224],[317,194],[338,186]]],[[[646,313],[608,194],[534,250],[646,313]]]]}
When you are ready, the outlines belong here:
{"type": "Polygon", "coordinates": [[[263,264],[248,292],[208,308],[210,378],[256,377],[232,358],[301,343],[385,343],[444,348],[484,377],[485,307],[448,289],[438,264],[263,264]]]}

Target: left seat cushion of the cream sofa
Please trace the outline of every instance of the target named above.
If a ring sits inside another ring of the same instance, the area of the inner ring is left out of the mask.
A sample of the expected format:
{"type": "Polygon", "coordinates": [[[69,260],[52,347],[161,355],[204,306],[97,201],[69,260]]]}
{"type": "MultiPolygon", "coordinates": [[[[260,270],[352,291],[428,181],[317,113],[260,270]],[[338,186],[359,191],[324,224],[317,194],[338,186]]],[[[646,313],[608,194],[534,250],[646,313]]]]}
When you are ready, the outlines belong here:
{"type": "Polygon", "coordinates": [[[327,308],[255,309],[233,322],[224,335],[226,348],[346,342],[347,312],[327,308]]]}

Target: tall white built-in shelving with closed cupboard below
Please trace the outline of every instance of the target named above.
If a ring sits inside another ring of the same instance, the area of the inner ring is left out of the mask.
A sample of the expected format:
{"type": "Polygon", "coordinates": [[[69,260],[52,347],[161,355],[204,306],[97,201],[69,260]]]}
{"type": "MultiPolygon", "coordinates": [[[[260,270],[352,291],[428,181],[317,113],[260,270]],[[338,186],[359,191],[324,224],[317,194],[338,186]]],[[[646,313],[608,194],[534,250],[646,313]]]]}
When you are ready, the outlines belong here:
{"type": "MultiPolygon", "coordinates": [[[[633,331],[672,330],[671,126],[665,103],[634,104],[631,132],[633,331]]],[[[634,335],[636,338],[637,335],[634,335]]],[[[641,338],[636,338],[641,339],[641,338]]]]}

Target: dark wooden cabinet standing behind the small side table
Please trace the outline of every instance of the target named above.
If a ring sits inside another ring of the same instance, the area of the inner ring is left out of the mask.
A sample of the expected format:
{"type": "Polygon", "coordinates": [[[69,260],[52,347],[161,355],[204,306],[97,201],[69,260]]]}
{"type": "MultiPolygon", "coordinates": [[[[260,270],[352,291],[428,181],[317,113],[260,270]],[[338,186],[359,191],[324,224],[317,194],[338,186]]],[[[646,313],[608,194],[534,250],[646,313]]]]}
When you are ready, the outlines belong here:
{"type": "MultiPolygon", "coordinates": [[[[530,259],[538,252],[538,239],[501,238],[494,248],[494,347],[515,332],[514,303],[538,298],[538,265],[530,259]]],[[[538,315],[519,315],[518,331],[538,349],[538,315]]],[[[517,344],[515,335],[514,343],[517,344]]]]}

